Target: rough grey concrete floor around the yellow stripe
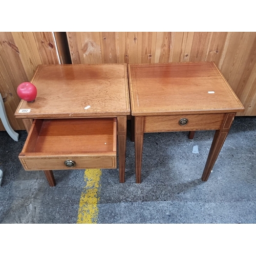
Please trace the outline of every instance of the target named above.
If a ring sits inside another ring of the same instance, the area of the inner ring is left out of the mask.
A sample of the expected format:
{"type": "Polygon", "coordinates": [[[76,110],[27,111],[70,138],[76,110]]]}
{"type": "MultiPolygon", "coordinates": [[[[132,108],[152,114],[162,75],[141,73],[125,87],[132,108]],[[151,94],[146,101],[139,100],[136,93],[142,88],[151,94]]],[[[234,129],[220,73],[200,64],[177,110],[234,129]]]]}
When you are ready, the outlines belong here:
{"type": "MultiPolygon", "coordinates": [[[[0,223],[76,223],[84,170],[55,170],[50,187],[43,172],[23,169],[18,154],[27,132],[17,132],[18,142],[0,132],[0,223]]],[[[256,118],[234,119],[207,182],[201,175],[214,131],[187,136],[145,134],[142,182],[136,184],[128,125],[125,183],[118,169],[102,169],[97,223],[256,223],[256,118]]]]}

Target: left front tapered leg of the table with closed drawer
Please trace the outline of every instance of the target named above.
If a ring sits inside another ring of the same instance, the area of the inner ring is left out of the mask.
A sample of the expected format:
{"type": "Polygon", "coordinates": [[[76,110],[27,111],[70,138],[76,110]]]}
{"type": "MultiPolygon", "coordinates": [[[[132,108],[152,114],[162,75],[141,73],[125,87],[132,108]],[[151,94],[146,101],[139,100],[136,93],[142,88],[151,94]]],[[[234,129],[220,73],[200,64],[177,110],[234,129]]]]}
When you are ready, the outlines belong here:
{"type": "Polygon", "coordinates": [[[135,117],[135,168],[136,183],[141,183],[141,162],[144,138],[144,117],[135,117]]]}

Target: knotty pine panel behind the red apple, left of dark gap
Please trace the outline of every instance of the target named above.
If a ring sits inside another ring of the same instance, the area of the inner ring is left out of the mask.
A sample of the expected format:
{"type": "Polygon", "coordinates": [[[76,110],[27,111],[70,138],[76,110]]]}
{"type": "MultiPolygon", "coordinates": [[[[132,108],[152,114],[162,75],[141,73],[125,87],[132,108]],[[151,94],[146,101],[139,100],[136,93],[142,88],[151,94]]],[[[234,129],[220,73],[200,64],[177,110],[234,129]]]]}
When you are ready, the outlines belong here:
{"type": "MultiPolygon", "coordinates": [[[[0,92],[13,130],[25,130],[14,117],[20,99],[16,90],[30,81],[37,65],[59,63],[52,32],[0,32],[0,92]]],[[[0,121],[0,131],[4,131],[0,121]]]]}

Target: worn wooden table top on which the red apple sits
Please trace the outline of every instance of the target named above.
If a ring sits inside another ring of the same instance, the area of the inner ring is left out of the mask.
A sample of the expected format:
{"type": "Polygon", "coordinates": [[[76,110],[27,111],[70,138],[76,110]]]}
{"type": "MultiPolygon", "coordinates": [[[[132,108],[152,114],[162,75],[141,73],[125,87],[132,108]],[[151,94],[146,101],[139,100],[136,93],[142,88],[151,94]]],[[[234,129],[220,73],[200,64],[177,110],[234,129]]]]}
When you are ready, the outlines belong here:
{"type": "Polygon", "coordinates": [[[20,101],[17,118],[130,115],[127,65],[39,65],[33,103],[20,101]],[[25,112],[26,110],[29,110],[25,112]]]}

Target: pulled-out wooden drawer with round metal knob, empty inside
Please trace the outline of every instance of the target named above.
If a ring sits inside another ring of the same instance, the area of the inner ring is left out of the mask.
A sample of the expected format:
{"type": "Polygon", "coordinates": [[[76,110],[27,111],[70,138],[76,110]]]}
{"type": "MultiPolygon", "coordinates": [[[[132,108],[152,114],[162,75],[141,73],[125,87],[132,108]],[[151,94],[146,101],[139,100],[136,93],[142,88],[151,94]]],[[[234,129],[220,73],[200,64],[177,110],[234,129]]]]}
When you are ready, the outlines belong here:
{"type": "Polygon", "coordinates": [[[35,119],[19,160],[26,170],[116,168],[116,118],[35,119]]]}

